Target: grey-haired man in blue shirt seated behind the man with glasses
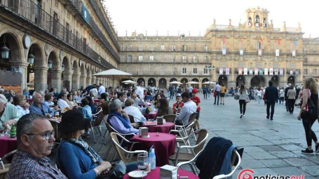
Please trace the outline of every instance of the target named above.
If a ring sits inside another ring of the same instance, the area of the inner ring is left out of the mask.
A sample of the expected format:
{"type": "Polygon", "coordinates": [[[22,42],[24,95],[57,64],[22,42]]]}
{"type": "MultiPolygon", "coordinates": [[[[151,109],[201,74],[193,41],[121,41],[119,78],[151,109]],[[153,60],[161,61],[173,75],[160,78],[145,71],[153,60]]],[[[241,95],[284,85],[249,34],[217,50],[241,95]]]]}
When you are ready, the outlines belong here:
{"type": "Polygon", "coordinates": [[[46,105],[44,102],[42,102],[42,95],[38,92],[33,92],[32,94],[33,104],[30,105],[30,113],[37,113],[40,115],[47,115],[50,114],[54,116],[54,110],[51,110],[48,105],[46,105]]]}

